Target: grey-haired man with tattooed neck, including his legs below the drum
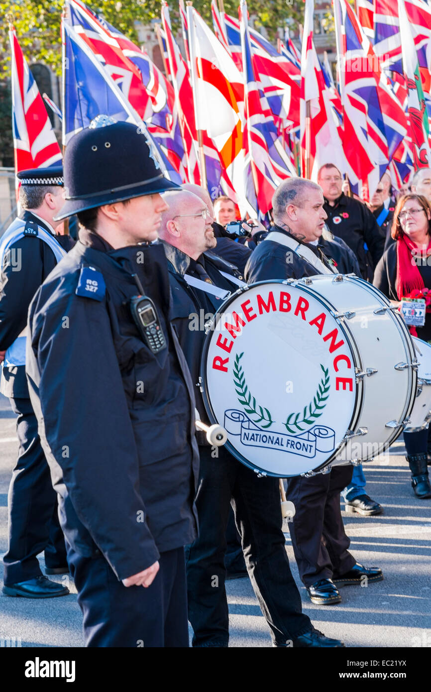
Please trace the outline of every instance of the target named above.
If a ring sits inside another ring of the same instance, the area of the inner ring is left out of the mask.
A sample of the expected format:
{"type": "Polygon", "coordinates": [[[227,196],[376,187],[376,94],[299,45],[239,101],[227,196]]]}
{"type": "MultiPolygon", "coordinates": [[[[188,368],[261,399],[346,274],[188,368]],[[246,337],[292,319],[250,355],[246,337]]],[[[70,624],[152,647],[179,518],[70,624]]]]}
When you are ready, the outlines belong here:
{"type": "MultiPolygon", "coordinates": [[[[315,246],[327,218],[319,185],[301,178],[284,181],[273,195],[273,210],[275,224],[246,266],[248,283],[337,273],[333,260],[315,246]]],[[[289,524],[293,551],[313,603],[339,603],[338,585],[383,579],[378,568],[363,567],[348,551],[340,493],[352,472],[352,466],[336,466],[330,473],[288,478],[286,498],[296,508],[289,524]]]]}

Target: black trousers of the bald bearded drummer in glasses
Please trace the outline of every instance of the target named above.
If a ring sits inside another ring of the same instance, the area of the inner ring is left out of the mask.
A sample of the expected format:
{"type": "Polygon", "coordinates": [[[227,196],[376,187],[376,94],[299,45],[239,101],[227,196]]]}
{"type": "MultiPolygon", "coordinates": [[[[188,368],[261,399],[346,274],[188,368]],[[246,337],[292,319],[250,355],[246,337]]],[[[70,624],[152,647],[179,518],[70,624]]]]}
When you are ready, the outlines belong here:
{"type": "Polygon", "coordinates": [[[302,613],[300,593],[288,563],[278,479],[258,478],[224,447],[218,448],[217,458],[212,458],[210,447],[199,450],[199,538],[186,549],[193,646],[228,646],[223,560],[230,502],[257,600],[273,641],[284,646],[287,639],[311,630],[311,622],[302,613]]]}

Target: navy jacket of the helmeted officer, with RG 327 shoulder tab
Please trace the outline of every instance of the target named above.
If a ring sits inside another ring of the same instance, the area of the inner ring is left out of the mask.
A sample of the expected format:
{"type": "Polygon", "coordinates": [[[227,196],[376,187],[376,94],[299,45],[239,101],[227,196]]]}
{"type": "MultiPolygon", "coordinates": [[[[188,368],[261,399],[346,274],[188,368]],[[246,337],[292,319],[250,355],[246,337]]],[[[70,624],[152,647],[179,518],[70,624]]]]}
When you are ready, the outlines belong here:
{"type": "Polygon", "coordinates": [[[171,307],[163,248],[114,250],[88,230],[30,305],[28,385],[60,523],[119,580],[196,538],[194,393],[171,307]],[[133,273],[169,345],[158,354],[131,316],[133,273]]]}

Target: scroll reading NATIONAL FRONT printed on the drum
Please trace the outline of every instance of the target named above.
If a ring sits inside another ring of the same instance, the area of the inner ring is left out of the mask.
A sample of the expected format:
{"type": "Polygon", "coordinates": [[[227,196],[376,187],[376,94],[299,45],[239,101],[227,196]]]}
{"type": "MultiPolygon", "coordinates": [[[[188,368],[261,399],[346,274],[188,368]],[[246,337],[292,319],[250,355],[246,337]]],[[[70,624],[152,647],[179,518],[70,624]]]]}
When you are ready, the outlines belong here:
{"type": "Polygon", "coordinates": [[[270,432],[259,428],[244,412],[235,408],[225,411],[224,428],[228,435],[239,436],[241,444],[246,446],[276,449],[309,459],[315,457],[316,452],[328,453],[335,447],[335,430],[327,426],[313,426],[300,435],[270,432]]]}

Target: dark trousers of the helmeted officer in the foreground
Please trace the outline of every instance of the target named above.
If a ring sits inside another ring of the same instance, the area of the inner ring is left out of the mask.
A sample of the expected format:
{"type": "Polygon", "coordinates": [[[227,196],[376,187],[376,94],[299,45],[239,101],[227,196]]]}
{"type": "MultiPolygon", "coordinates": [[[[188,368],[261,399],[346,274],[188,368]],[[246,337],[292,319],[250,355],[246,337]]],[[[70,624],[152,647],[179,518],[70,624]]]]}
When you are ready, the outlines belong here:
{"type": "Polygon", "coordinates": [[[183,547],[161,554],[148,588],[126,588],[102,556],[84,558],[69,547],[68,561],[84,617],[85,646],[189,646],[183,547]]]}

